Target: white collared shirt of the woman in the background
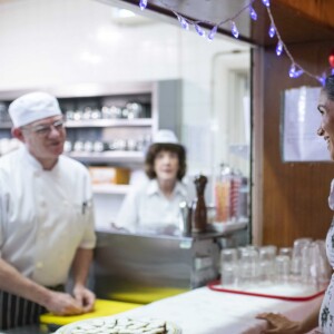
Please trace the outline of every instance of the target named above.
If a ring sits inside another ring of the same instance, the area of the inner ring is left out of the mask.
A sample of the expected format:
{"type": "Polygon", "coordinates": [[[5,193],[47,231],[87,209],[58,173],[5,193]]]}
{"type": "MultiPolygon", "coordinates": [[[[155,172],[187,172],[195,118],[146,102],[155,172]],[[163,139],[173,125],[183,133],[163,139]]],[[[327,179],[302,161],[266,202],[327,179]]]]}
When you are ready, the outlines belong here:
{"type": "Polygon", "coordinates": [[[179,203],[187,200],[186,186],[177,181],[170,198],[159,189],[156,179],[132,189],[125,198],[116,225],[130,233],[178,234],[179,203]]]}

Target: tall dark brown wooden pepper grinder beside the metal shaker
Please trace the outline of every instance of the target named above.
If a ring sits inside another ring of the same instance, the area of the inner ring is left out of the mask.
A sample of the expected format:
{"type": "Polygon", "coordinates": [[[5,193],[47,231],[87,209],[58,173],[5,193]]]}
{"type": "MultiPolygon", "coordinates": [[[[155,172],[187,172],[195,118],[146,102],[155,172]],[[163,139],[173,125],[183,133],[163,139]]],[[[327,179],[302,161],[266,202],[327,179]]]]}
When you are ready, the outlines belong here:
{"type": "Polygon", "coordinates": [[[204,175],[195,176],[194,184],[196,187],[197,197],[191,206],[191,230],[194,233],[203,233],[206,229],[207,212],[204,199],[204,190],[207,184],[207,177],[204,175]]]}

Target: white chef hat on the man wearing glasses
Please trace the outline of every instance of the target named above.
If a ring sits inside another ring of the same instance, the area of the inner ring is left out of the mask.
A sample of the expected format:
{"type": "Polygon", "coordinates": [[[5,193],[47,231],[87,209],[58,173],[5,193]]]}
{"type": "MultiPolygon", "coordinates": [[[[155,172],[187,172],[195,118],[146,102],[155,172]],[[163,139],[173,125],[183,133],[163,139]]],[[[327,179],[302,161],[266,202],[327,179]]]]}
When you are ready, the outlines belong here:
{"type": "Polygon", "coordinates": [[[16,128],[61,115],[57,99],[43,91],[29,92],[17,98],[9,105],[8,111],[16,128]]]}

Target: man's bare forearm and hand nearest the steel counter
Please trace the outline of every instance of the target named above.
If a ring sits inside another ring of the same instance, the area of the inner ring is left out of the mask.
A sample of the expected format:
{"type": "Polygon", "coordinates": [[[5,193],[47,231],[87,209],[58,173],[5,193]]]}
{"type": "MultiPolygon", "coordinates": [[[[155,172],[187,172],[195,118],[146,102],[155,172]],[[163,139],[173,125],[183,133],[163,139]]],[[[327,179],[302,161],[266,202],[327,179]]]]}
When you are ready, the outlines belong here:
{"type": "Polygon", "coordinates": [[[86,288],[89,266],[92,259],[92,249],[78,248],[73,263],[73,296],[84,312],[94,310],[95,294],[86,288]]]}

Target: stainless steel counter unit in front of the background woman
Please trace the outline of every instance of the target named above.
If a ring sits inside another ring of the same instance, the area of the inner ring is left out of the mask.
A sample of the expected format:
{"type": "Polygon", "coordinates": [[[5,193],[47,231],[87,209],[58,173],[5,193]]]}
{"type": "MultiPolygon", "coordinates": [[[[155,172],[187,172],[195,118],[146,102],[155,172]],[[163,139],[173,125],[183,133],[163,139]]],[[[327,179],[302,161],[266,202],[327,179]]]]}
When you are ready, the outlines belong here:
{"type": "Polygon", "coordinates": [[[167,236],[98,232],[97,236],[94,266],[97,296],[145,304],[217,278],[219,240],[225,234],[167,236]],[[144,299],[138,297],[140,294],[144,299]]]}

